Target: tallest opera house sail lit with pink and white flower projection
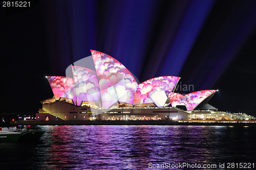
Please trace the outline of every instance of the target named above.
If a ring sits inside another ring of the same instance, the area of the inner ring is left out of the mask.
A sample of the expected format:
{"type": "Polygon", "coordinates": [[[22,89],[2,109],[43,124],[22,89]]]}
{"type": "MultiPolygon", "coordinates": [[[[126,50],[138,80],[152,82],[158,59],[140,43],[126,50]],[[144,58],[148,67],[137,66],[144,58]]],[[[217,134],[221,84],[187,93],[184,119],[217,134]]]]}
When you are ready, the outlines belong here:
{"type": "Polygon", "coordinates": [[[138,83],[131,72],[113,57],[91,51],[95,64],[102,107],[109,108],[117,101],[133,104],[138,83]]]}

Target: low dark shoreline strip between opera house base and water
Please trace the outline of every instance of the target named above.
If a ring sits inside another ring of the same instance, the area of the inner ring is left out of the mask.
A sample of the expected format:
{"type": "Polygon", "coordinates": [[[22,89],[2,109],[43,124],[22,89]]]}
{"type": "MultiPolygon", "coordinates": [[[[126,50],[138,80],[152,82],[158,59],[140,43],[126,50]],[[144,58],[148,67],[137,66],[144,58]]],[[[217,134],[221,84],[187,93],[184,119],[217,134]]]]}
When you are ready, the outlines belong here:
{"type": "Polygon", "coordinates": [[[18,125],[162,125],[162,126],[255,126],[255,120],[31,120],[11,121],[10,126],[18,125]]]}

